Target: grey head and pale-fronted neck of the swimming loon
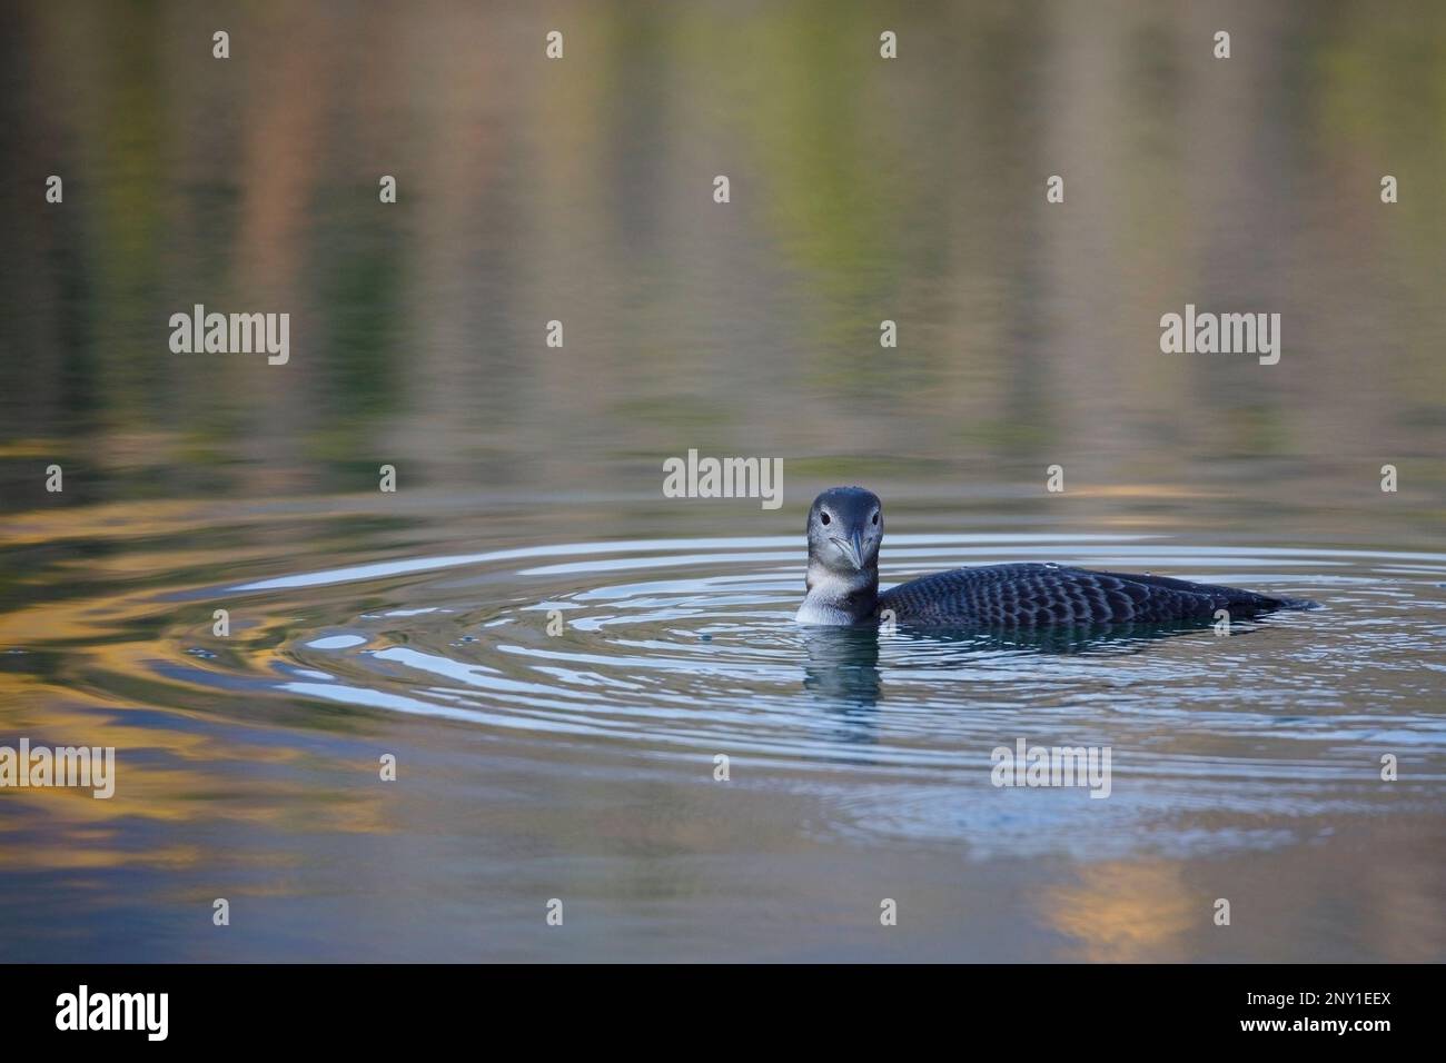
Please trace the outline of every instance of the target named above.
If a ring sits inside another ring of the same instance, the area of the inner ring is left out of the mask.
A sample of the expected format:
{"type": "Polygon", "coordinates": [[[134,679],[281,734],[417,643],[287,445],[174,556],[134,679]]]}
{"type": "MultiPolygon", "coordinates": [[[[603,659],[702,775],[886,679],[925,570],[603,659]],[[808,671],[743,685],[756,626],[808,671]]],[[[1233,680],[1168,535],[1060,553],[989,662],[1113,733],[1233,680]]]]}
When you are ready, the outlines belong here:
{"type": "Polygon", "coordinates": [[[800,623],[857,623],[879,597],[884,503],[863,487],[830,487],[808,508],[808,594],[800,623]]]}

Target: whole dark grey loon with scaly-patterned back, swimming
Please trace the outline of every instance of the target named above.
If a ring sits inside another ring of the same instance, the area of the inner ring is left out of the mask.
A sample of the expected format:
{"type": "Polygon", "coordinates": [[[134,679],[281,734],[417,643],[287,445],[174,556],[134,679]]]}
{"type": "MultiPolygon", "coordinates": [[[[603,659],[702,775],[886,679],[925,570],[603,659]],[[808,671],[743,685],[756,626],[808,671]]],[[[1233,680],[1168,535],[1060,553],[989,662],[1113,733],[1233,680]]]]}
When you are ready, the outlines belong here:
{"type": "Polygon", "coordinates": [[[1164,576],[1056,564],[954,568],[879,593],[884,505],[863,487],[830,487],[808,509],[808,593],[798,623],[856,625],[888,612],[921,628],[1047,628],[1231,619],[1314,602],[1164,576]]]}

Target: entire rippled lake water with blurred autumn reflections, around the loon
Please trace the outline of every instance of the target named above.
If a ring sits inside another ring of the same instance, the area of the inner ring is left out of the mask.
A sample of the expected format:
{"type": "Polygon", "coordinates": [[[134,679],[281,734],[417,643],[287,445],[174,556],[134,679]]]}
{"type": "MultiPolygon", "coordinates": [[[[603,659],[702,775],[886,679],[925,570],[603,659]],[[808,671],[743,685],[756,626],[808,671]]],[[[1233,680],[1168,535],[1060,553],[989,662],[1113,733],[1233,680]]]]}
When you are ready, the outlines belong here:
{"type": "Polygon", "coordinates": [[[1446,959],[1442,9],[78,10],[0,45],[0,746],[116,794],[0,791],[0,959],[1446,959]],[[804,629],[834,483],[885,584],[1322,607],[804,629]]]}

